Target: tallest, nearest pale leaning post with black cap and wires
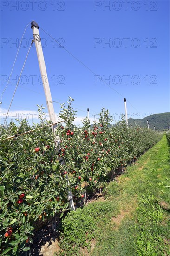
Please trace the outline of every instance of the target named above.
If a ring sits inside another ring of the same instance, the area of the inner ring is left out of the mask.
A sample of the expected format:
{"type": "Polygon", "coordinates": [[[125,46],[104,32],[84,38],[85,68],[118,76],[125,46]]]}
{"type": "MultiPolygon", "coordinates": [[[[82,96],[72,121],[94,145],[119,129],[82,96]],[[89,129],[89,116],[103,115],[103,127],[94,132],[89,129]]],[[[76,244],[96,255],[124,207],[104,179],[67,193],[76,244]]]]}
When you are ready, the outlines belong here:
{"type": "MultiPolygon", "coordinates": [[[[46,72],[46,64],[44,61],[44,55],[43,55],[43,50],[42,50],[42,46],[41,46],[41,38],[39,36],[39,25],[35,21],[32,21],[31,28],[33,30],[33,38],[34,38],[34,43],[35,43],[35,47],[36,47],[36,51],[37,51],[37,56],[38,56],[38,61],[39,61],[39,69],[40,69],[42,83],[43,83],[44,92],[45,92],[45,96],[46,96],[46,104],[47,104],[47,108],[48,108],[50,121],[55,123],[56,120],[55,120],[54,107],[53,107],[53,103],[52,103],[52,95],[51,95],[50,86],[49,86],[49,82],[48,82],[48,76],[47,76],[47,72],[46,72]]],[[[55,134],[56,127],[57,127],[56,124],[54,124],[52,126],[52,131],[54,134],[55,134]]],[[[60,138],[57,135],[55,136],[55,144],[56,144],[57,150],[59,151],[61,149],[61,146],[60,146],[60,138]]],[[[63,158],[60,158],[59,160],[62,160],[61,164],[65,164],[63,158]]],[[[68,179],[68,176],[67,176],[67,179],[68,179]]],[[[71,208],[72,210],[75,210],[72,193],[70,191],[68,192],[68,201],[69,201],[69,208],[71,208]]]]}

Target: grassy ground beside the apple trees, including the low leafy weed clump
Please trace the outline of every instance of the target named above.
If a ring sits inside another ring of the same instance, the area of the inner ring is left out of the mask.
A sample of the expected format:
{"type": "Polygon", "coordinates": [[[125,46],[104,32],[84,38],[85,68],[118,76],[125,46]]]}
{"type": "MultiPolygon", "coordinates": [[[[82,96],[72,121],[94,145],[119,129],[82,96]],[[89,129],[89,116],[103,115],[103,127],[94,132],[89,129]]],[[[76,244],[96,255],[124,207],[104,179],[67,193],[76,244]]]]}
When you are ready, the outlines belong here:
{"type": "Polygon", "coordinates": [[[170,158],[166,136],[110,182],[105,200],[63,220],[57,255],[170,255],[170,158]],[[95,244],[90,251],[91,239],[95,244]],[[89,253],[85,249],[87,247],[89,253]]]}

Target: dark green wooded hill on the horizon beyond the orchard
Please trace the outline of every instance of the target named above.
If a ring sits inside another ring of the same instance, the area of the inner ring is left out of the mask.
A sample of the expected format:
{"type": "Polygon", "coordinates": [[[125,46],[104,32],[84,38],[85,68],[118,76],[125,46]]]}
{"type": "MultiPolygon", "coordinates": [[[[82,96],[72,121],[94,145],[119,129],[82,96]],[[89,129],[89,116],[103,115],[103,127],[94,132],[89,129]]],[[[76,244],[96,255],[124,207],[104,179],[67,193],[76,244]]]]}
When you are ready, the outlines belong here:
{"type": "Polygon", "coordinates": [[[155,129],[158,129],[159,131],[167,131],[168,127],[170,127],[170,112],[153,114],[148,117],[144,117],[143,119],[129,118],[128,124],[147,127],[147,119],[149,122],[149,128],[152,130],[154,130],[154,125],[155,129]]]}

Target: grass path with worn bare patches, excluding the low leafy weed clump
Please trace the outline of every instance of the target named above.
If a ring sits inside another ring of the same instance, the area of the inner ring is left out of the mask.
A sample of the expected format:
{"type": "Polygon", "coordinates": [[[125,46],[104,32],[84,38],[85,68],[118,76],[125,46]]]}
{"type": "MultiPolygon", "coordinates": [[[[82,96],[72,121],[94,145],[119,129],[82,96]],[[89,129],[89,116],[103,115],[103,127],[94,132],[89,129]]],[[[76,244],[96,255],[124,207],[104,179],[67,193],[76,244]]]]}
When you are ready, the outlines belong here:
{"type": "Polygon", "coordinates": [[[164,136],[109,184],[106,197],[117,201],[120,214],[98,233],[92,256],[170,255],[169,161],[164,136]]]}

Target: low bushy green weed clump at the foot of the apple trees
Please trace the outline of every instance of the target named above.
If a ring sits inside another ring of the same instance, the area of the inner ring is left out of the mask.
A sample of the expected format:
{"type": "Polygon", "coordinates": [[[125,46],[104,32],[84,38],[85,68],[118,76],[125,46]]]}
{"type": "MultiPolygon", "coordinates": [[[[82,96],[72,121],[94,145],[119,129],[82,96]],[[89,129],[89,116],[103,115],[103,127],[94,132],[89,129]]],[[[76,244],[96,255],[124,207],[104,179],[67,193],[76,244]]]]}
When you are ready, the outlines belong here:
{"type": "MultiPolygon", "coordinates": [[[[70,212],[63,220],[60,247],[70,255],[78,252],[80,247],[90,250],[90,241],[94,238],[99,222],[107,224],[110,218],[118,214],[116,202],[93,202],[83,209],[70,212]]],[[[65,255],[65,251],[60,255],[65,255]]]]}

